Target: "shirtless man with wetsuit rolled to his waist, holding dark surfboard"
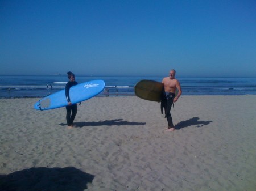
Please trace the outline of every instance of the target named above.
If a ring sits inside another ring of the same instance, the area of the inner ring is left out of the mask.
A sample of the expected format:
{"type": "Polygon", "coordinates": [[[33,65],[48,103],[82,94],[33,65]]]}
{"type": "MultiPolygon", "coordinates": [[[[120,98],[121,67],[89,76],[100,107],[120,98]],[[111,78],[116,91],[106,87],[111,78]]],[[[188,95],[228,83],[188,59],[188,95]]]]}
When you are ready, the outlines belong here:
{"type": "Polygon", "coordinates": [[[172,123],[171,116],[171,107],[174,102],[176,102],[180,95],[182,94],[182,90],[180,87],[180,82],[175,79],[176,71],[172,69],[169,73],[169,77],[163,78],[162,83],[164,85],[164,91],[166,92],[166,100],[164,100],[164,111],[166,113],[166,118],[168,122],[168,131],[174,131],[174,124],[172,123]],[[175,97],[175,91],[179,90],[177,96],[175,97]]]}

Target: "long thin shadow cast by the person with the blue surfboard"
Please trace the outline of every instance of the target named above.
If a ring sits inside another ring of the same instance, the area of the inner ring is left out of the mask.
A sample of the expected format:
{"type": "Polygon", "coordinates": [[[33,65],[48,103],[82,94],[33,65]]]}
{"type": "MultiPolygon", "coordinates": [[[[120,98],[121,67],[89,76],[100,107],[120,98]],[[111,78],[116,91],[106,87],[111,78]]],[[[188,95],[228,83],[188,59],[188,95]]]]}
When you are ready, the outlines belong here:
{"type": "MultiPolygon", "coordinates": [[[[61,123],[61,126],[67,126],[67,124],[61,123]]],[[[112,126],[112,125],[146,125],[146,122],[129,122],[123,121],[123,119],[117,120],[105,120],[105,121],[88,121],[88,122],[74,122],[76,128],[82,128],[84,126],[112,126]]]]}

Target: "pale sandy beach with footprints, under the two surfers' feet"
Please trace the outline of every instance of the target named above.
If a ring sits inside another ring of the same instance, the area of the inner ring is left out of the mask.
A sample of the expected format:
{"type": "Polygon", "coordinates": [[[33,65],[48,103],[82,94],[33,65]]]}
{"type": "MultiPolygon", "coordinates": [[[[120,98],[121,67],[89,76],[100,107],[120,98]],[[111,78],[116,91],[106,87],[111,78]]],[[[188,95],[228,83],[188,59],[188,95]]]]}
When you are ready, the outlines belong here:
{"type": "Polygon", "coordinates": [[[0,190],[247,190],[256,188],[256,96],[181,96],[166,131],[160,103],[93,97],[36,111],[0,99],[0,190]]]}

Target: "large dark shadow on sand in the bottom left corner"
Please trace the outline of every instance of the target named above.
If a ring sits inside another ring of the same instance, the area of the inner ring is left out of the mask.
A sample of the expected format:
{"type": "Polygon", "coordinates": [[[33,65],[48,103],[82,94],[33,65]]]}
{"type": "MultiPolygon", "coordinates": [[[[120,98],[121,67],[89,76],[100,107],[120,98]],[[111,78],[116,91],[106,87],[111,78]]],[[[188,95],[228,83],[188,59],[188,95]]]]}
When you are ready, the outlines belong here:
{"type": "Polygon", "coordinates": [[[9,175],[0,175],[0,190],[75,190],[87,189],[94,175],[82,172],[75,167],[30,168],[9,175]]]}

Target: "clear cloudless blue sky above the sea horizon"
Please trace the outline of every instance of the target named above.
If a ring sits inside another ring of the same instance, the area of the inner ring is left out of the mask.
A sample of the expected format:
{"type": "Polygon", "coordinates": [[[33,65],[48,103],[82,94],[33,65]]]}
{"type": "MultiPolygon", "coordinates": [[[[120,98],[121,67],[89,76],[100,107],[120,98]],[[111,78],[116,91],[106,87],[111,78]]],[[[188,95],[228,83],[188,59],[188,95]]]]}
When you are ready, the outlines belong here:
{"type": "Polygon", "coordinates": [[[0,75],[256,77],[256,1],[0,0],[0,75]]]}

